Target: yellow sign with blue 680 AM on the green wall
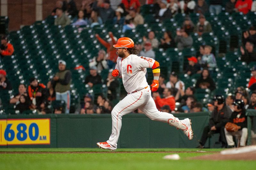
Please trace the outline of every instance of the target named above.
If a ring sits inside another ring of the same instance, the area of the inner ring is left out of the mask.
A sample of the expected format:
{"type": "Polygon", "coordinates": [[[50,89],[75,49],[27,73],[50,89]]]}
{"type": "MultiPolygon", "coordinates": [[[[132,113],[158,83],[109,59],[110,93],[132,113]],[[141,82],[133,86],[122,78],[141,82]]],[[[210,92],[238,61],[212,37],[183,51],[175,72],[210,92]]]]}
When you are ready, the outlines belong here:
{"type": "Polygon", "coordinates": [[[0,145],[50,144],[50,119],[0,120],[0,145]]]}

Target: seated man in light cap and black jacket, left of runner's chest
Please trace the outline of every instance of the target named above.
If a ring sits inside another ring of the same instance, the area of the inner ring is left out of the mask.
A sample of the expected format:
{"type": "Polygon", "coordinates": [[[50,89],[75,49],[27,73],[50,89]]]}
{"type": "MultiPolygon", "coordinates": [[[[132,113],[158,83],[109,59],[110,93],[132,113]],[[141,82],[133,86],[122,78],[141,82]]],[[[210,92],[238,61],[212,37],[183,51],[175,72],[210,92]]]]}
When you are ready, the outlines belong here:
{"type": "Polygon", "coordinates": [[[90,67],[90,75],[85,77],[85,84],[88,84],[92,88],[95,84],[101,84],[101,76],[97,73],[97,67],[90,67]]]}

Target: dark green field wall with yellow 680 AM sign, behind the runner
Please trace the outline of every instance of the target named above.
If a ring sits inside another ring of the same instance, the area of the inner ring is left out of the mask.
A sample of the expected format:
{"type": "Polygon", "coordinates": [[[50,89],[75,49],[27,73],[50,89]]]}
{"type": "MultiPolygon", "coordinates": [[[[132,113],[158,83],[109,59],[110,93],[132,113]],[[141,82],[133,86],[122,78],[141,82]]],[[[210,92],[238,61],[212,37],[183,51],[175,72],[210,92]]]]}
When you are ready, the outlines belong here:
{"type": "MultiPolygon", "coordinates": [[[[118,148],[195,148],[209,122],[209,113],[179,113],[174,116],[191,119],[193,140],[189,141],[181,130],[167,123],[150,120],[144,114],[131,113],[123,117],[118,148]]],[[[0,121],[0,147],[94,148],[97,142],[108,140],[112,127],[110,114],[0,115],[0,121]],[[42,125],[40,120],[46,120],[46,123],[42,125]],[[4,143],[6,140],[9,141],[4,143]]]]}

